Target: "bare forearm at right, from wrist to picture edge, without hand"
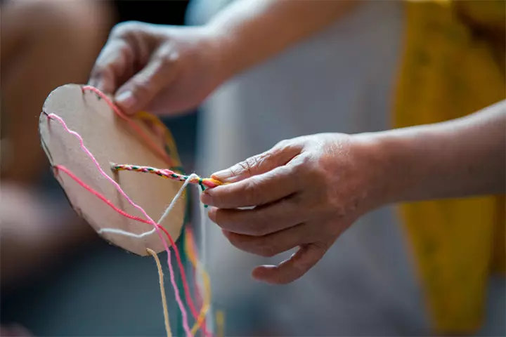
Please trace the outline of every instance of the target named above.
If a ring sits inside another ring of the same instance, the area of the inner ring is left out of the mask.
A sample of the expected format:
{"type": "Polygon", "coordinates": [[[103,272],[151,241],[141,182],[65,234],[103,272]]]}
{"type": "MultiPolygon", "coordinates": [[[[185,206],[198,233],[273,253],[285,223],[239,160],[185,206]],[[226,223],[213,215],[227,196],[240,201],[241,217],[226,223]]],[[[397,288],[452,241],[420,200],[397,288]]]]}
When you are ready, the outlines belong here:
{"type": "Polygon", "coordinates": [[[416,201],[505,192],[506,101],[462,119],[372,136],[384,198],[416,201]]]}

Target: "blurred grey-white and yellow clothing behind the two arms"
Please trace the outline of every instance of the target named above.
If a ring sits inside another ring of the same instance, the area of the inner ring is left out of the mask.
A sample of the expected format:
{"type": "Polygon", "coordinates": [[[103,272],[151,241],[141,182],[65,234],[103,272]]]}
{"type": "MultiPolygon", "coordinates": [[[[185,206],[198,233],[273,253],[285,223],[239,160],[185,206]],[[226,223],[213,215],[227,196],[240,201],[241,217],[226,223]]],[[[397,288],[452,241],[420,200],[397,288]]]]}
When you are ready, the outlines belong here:
{"type": "MultiPolygon", "coordinates": [[[[231,2],[194,1],[192,22],[212,20],[231,2]]],[[[504,7],[503,1],[365,1],[207,100],[197,171],[213,173],[311,132],[435,123],[503,100],[504,7]]],[[[259,284],[248,271],[290,254],[237,253],[211,227],[209,269],[219,280],[214,294],[230,312],[231,333],[263,327],[290,336],[480,328],[501,334],[504,278],[491,282],[489,275],[504,270],[503,210],[500,197],[408,204],[401,213],[394,206],[379,209],[288,286],[259,284]]]]}

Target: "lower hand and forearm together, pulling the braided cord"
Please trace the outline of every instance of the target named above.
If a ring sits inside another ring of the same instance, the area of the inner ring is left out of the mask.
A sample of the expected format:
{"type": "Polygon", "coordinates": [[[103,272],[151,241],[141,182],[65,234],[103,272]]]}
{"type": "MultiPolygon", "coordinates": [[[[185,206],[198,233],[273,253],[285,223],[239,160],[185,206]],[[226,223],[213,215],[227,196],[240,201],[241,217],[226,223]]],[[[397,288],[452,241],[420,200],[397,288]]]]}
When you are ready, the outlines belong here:
{"type": "Polygon", "coordinates": [[[346,228],[399,201],[502,194],[506,101],[470,117],[380,133],[285,140],[220,171],[231,183],[207,190],[209,218],[242,251],[275,256],[253,276],[286,284],[304,275],[346,228]],[[252,209],[239,209],[253,207],[252,209]]]}

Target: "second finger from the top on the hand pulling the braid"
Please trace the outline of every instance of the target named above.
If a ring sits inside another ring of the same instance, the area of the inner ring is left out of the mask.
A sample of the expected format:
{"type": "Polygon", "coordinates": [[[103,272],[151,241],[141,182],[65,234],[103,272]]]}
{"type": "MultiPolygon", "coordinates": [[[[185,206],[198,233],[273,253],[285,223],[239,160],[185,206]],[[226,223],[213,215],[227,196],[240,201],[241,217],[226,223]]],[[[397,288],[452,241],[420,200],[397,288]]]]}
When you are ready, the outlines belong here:
{"type": "Polygon", "coordinates": [[[299,178],[297,166],[287,164],[238,183],[205,190],[201,200],[220,209],[261,206],[299,192],[302,186],[299,178]]]}

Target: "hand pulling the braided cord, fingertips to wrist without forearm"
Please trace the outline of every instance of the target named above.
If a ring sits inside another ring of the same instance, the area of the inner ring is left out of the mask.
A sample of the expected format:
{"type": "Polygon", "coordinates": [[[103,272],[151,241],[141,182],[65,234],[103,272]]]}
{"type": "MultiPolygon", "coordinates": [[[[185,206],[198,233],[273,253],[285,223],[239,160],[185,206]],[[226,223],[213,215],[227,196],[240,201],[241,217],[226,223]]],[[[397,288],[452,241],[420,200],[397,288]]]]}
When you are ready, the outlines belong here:
{"type": "Polygon", "coordinates": [[[379,206],[382,158],[367,137],[326,133],[285,140],[212,177],[209,218],[238,249],[271,257],[299,246],[253,277],[286,284],[304,275],[337,237],[379,206]],[[252,209],[239,209],[252,207],[252,209]]]}

